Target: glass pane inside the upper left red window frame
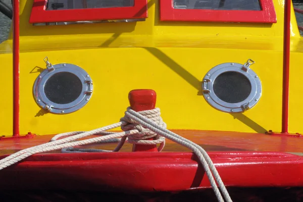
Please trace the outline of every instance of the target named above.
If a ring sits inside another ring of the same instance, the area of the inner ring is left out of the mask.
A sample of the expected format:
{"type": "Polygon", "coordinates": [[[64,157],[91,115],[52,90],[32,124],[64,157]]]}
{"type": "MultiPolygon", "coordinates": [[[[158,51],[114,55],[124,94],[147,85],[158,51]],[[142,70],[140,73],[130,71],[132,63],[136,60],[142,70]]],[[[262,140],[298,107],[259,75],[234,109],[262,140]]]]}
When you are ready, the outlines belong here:
{"type": "Polygon", "coordinates": [[[48,0],[46,10],[133,7],[134,0],[48,0]]]}

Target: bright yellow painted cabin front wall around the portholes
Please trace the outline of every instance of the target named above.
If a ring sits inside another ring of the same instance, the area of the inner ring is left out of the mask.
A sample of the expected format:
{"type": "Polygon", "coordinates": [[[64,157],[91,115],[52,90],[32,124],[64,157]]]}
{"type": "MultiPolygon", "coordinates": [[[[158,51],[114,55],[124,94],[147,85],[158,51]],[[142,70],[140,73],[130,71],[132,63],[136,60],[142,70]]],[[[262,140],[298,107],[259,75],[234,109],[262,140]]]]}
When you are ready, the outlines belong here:
{"type": "MultiPolygon", "coordinates": [[[[148,18],[136,23],[32,26],[32,0],[20,4],[20,132],[55,134],[91,130],[118,122],[132,89],[156,90],[169,129],[259,132],[281,130],[283,3],[274,0],[276,24],[161,22],[159,1],[148,3],[148,18]],[[85,69],[94,92],[81,110],[55,115],[35,103],[32,88],[45,68],[72,63],[85,69]],[[212,108],[201,95],[201,80],[221,63],[256,61],[251,68],[262,81],[260,102],[243,114],[212,108]]],[[[303,132],[301,87],[303,40],[294,13],[291,23],[290,132],[303,132]]],[[[0,44],[3,93],[0,134],[12,135],[12,40],[0,44]]]]}

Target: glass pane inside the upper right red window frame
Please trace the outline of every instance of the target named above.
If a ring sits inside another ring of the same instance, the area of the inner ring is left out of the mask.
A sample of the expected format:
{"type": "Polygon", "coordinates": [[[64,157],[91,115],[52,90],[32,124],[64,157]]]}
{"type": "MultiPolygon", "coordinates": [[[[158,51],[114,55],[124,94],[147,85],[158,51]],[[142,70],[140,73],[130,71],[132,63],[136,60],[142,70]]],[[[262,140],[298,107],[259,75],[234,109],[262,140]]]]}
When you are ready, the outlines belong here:
{"type": "Polygon", "coordinates": [[[259,0],[174,0],[174,8],[261,11],[259,0]]]}

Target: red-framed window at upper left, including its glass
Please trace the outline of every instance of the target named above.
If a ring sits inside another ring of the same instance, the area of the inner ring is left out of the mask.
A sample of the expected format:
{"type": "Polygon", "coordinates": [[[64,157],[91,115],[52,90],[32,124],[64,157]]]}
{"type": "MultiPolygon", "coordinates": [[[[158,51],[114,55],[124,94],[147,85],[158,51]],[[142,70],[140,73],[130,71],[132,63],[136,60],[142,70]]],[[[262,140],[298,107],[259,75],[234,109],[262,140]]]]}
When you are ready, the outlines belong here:
{"type": "Polygon", "coordinates": [[[34,0],[30,23],[147,18],[147,0],[34,0]]]}

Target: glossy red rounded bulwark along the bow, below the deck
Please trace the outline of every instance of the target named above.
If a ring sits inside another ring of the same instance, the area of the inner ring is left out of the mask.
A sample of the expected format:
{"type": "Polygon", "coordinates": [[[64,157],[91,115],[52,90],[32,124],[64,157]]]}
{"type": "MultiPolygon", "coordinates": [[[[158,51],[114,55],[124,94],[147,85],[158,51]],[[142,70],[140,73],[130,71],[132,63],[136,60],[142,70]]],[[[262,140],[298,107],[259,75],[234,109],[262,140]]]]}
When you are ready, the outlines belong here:
{"type": "MultiPolygon", "coordinates": [[[[303,187],[303,157],[257,151],[210,152],[224,184],[303,187]]],[[[0,171],[0,189],[181,191],[209,188],[192,153],[33,155],[0,171]]]]}

